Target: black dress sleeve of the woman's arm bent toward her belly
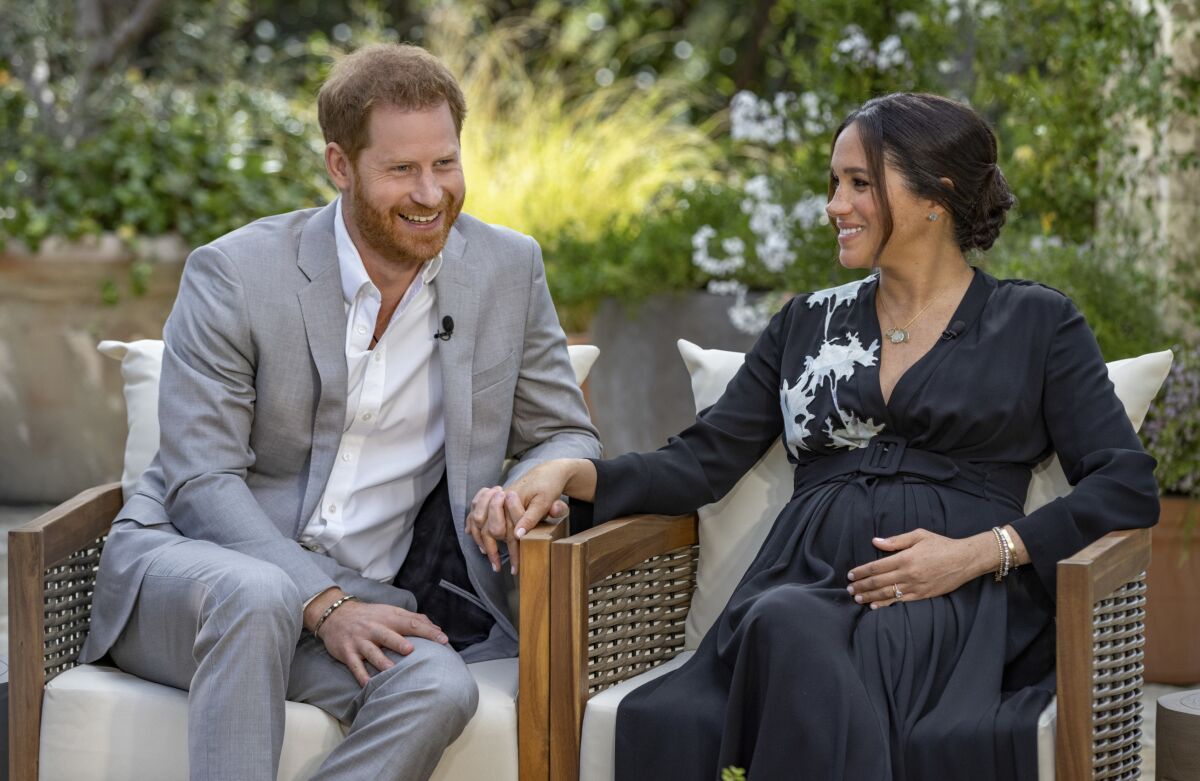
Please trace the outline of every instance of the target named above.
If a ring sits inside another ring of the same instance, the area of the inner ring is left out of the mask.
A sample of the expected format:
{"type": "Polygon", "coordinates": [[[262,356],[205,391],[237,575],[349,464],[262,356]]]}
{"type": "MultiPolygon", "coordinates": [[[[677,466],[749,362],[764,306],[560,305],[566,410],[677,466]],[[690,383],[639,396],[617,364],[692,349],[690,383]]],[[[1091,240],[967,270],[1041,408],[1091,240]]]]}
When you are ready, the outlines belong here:
{"type": "Polygon", "coordinates": [[[1067,299],[1045,356],[1043,414],[1070,494],[1013,523],[1046,591],[1064,559],[1109,531],[1158,521],[1154,459],[1112,390],[1096,337],[1067,299]]]}

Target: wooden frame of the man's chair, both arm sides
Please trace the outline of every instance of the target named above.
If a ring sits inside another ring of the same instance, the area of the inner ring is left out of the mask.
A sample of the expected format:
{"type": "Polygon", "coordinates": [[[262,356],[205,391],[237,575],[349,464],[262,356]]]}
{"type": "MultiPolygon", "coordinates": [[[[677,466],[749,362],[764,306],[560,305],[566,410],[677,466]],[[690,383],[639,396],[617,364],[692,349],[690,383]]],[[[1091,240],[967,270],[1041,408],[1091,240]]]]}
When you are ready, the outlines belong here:
{"type": "MultiPolygon", "coordinates": [[[[8,777],[38,777],[42,690],[77,665],[120,483],[89,488],[8,533],[8,777]]],[[[550,552],[565,524],[521,543],[517,751],[522,781],[550,777],[550,552]]]]}

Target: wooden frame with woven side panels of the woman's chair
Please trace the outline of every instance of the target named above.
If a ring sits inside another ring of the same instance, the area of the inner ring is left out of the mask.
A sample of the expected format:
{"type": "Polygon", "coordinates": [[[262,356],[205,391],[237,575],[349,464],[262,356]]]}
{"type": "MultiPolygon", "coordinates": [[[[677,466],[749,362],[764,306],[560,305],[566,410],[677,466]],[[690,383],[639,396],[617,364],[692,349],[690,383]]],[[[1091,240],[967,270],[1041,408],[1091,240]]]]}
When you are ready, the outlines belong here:
{"type": "MultiPolygon", "coordinates": [[[[578,777],[588,697],[683,649],[697,545],[695,515],[618,518],[551,545],[554,781],[578,777]]],[[[1140,777],[1148,565],[1148,529],[1114,531],[1058,563],[1058,781],[1140,777]]]]}

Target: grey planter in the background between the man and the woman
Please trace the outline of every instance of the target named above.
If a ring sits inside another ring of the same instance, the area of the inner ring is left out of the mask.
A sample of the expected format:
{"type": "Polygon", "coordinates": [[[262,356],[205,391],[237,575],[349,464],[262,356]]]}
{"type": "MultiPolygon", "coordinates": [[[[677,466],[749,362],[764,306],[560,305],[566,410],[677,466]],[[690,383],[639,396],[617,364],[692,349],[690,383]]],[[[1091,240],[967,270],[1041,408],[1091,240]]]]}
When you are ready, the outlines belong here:
{"type": "Polygon", "coordinates": [[[592,417],[605,456],[654,450],[696,419],[691,380],[676,341],[745,352],[755,336],[730,323],[731,296],[654,295],[636,305],[606,300],[592,322],[600,358],[588,378],[592,417]]]}

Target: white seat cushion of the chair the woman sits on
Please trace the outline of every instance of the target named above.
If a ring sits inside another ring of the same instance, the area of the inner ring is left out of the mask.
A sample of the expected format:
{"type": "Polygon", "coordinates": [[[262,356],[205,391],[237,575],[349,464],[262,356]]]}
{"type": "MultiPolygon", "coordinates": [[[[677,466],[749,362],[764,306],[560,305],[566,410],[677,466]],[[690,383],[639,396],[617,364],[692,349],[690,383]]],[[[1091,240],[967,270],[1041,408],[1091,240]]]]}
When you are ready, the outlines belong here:
{"type": "MultiPolygon", "coordinates": [[[[683,667],[694,653],[683,651],[654,669],[605,689],[588,701],[580,743],[580,781],[613,781],[613,744],[617,740],[617,708],[620,701],[642,684],[683,667]]],[[[1054,729],[1057,713],[1056,703],[1051,701],[1038,717],[1038,781],[1054,781],[1054,729]]]]}

